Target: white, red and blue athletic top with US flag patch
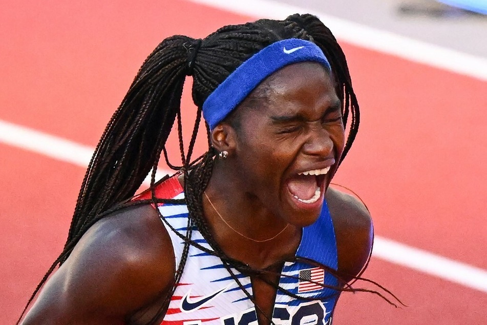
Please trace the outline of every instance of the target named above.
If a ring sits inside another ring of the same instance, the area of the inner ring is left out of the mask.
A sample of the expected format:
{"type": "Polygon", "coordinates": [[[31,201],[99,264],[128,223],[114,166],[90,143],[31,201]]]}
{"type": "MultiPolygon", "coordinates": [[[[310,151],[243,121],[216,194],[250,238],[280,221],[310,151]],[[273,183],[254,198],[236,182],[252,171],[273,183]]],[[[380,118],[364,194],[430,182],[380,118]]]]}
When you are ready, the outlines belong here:
{"type": "MultiPolygon", "coordinates": [[[[183,189],[176,177],[158,185],[156,195],[158,198],[184,198],[183,189]]],[[[171,236],[176,268],[178,268],[183,255],[184,240],[166,222],[185,236],[188,225],[187,207],[185,204],[163,204],[158,209],[165,219],[162,223],[171,236]]],[[[196,228],[193,229],[192,240],[211,250],[196,228]]],[[[333,270],[337,269],[335,234],[326,202],[319,219],[313,225],[303,228],[296,255],[319,261],[333,270]]],[[[252,295],[250,277],[235,269],[232,271],[240,284],[252,295]]],[[[340,293],[306,280],[329,286],[337,286],[338,283],[335,277],[323,269],[302,262],[286,262],[279,286],[292,294],[316,298],[316,300],[293,298],[278,290],[272,315],[274,323],[277,325],[331,324],[331,315],[340,293]]],[[[219,257],[210,255],[195,246],[189,246],[181,279],[161,324],[257,325],[257,313],[250,298],[239,288],[219,257]]]]}

